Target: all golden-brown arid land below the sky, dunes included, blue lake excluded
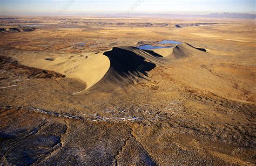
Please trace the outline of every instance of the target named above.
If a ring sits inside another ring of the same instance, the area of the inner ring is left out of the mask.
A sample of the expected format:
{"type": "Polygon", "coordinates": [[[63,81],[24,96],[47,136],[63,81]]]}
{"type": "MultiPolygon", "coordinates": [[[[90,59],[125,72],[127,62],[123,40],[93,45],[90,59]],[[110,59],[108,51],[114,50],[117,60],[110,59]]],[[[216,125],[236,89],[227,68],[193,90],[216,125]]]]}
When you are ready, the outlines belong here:
{"type": "Polygon", "coordinates": [[[254,20],[0,25],[1,164],[256,164],[254,20]]]}

